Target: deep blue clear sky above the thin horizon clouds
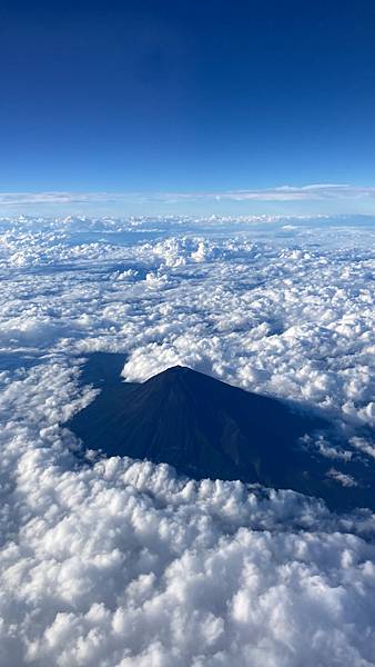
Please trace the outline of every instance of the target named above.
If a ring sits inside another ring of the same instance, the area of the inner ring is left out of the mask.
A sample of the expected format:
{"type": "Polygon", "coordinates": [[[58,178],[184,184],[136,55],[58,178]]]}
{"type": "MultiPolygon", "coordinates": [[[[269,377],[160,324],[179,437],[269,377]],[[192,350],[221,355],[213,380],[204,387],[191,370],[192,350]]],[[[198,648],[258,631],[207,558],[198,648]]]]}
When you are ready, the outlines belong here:
{"type": "Polygon", "coordinates": [[[374,0],[2,0],[0,86],[2,192],[374,181],[374,0]]]}

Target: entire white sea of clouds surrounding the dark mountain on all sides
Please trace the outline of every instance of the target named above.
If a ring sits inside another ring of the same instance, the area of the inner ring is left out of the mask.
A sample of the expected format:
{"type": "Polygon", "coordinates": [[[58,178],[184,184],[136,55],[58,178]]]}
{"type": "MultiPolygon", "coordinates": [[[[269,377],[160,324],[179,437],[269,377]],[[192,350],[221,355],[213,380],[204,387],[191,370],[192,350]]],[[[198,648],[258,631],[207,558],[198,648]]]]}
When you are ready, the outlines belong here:
{"type": "Polygon", "coordinates": [[[374,241],[368,219],[0,220],[0,665],[375,665],[369,510],[84,457],[63,426],[85,355],[115,351],[128,380],[183,364],[298,401],[373,461],[374,241]]]}

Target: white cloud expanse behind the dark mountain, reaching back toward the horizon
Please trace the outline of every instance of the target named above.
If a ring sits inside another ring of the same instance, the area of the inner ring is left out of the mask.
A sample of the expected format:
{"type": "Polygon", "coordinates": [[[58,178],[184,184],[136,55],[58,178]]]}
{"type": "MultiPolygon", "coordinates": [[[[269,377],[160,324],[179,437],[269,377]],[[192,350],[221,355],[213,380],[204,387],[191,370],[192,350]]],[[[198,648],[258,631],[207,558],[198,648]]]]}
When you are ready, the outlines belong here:
{"type": "Polygon", "coordinates": [[[8,223],[0,340],[125,350],[130,380],[182,362],[373,427],[371,229],[296,227],[270,243],[170,225],[144,240],[139,221],[8,223]]]}

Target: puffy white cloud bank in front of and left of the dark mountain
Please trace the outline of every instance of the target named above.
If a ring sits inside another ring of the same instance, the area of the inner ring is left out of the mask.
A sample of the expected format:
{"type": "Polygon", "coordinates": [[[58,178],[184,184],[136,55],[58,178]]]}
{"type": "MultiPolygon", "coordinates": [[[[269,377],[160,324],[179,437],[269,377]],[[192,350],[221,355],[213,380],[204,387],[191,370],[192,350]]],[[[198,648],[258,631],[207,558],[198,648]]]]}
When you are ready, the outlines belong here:
{"type": "Polygon", "coordinates": [[[74,467],[75,375],[54,360],[2,396],[4,664],[373,663],[369,512],[130,459],[74,467]]]}

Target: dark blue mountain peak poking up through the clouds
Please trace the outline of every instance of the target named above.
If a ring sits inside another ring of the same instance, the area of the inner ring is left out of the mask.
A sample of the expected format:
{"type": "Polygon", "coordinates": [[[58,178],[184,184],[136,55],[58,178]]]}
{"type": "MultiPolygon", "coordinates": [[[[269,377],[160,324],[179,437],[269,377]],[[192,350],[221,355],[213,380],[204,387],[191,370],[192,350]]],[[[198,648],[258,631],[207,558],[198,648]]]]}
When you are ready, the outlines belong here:
{"type": "Polygon", "coordinates": [[[85,447],[171,464],[196,479],[291,488],[334,507],[371,504],[372,476],[358,487],[344,487],[330,474],[333,462],[356,476],[363,465],[336,466],[303,446],[305,434],[328,428],[322,419],[190,368],[170,368],[143,384],[120,381],[120,368],[116,356],[97,355],[91,372],[85,371],[84,379],[102,391],[68,424],[85,447]]]}

